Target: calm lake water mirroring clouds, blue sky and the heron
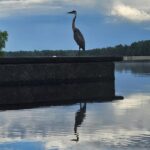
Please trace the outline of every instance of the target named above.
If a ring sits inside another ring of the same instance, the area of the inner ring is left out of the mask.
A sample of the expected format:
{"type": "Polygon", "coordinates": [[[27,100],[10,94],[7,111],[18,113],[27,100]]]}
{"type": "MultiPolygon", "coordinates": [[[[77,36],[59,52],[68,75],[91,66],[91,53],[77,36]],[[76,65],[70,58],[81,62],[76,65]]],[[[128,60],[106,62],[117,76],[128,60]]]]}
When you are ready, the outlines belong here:
{"type": "Polygon", "coordinates": [[[149,150],[150,63],[116,64],[124,100],[0,112],[0,150],[149,150]]]}

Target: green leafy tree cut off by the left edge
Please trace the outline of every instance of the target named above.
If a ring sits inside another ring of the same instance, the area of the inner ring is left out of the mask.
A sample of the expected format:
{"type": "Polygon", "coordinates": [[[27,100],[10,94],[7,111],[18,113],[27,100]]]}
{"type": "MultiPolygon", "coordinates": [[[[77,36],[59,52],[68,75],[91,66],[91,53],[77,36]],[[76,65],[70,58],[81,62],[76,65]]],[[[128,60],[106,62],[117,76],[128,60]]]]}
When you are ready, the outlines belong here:
{"type": "Polygon", "coordinates": [[[8,40],[8,33],[7,31],[0,31],[0,51],[2,48],[5,48],[5,43],[8,40]]]}

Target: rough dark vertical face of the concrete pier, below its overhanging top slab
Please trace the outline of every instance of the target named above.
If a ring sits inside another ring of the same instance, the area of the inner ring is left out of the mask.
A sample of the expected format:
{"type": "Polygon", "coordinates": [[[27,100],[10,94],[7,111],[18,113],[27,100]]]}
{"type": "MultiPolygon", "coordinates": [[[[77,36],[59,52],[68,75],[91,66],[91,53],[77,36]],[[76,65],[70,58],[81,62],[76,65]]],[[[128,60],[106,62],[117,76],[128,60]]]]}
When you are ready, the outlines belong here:
{"type": "Polygon", "coordinates": [[[0,65],[0,85],[114,79],[113,63],[0,65]]]}

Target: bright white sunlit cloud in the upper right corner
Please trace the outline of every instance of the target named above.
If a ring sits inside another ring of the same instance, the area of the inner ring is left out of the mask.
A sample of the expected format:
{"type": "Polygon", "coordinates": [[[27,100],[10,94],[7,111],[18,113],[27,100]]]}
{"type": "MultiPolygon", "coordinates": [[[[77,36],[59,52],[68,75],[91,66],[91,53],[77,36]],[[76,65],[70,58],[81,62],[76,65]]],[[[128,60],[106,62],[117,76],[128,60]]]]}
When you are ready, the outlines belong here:
{"type": "Polygon", "coordinates": [[[99,11],[109,17],[107,22],[118,22],[127,20],[141,23],[150,21],[150,1],[149,0],[101,0],[95,5],[99,11]],[[118,21],[117,21],[118,20],[118,21]]]}

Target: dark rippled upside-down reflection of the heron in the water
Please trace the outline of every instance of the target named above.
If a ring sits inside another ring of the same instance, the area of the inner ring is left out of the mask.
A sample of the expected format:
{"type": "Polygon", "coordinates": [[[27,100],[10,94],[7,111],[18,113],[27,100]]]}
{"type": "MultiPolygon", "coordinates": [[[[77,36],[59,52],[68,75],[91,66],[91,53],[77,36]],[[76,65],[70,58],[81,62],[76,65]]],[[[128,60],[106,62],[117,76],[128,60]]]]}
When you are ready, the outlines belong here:
{"type": "Polygon", "coordinates": [[[79,133],[78,133],[78,127],[81,126],[84,118],[86,116],[86,103],[83,104],[80,103],[80,109],[76,112],[75,115],[75,124],[74,124],[74,134],[76,135],[76,139],[73,139],[72,141],[79,141],[79,133]]]}

